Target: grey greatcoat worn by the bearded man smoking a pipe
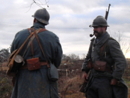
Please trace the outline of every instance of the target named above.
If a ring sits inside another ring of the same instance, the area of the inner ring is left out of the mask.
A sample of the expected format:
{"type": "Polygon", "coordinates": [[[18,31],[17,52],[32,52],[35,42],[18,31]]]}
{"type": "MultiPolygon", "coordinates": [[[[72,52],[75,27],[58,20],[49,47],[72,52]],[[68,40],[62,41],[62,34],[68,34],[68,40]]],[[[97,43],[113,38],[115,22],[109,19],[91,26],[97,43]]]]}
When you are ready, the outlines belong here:
{"type": "Polygon", "coordinates": [[[98,39],[92,39],[88,54],[82,65],[82,71],[88,73],[91,70],[93,76],[93,81],[86,92],[88,95],[87,98],[127,98],[127,86],[122,79],[126,66],[126,59],[120,49],[119,43],[113,38],[110,38],[107,32],[98,39]],[[101,47],[105,43],[105,49],[102,51],[102,55],[100,55],[101,47]],[[107,62],[107,66],[112,68],[111,73],[107,71],[99,72],[93,68],[90,69],[88,67],[89,60],[92,63],[95,61],[107,62]],[[110,85],[110,81],[113,78],[117,79],[120,84],[115,86],[110,85]],[[100,90],[100,88],[103,90],[100,90]],[[97,95],[98,97],[89,97],[89,95],[97,95]]]}

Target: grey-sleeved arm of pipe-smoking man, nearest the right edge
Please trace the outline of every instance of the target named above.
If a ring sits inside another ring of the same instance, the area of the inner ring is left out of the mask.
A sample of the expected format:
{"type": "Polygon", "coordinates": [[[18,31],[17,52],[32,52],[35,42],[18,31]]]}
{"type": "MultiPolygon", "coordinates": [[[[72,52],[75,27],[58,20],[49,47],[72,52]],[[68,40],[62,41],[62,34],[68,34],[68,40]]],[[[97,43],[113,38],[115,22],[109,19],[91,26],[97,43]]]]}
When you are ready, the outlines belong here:
{"type": "Polygon", "coordinates": [[[120,80],[127,66],[126,59],[117,41],[109,40],[108,45],[111,57],[114,60],[114,70],[112,76],[114,79],[120,80]]]}

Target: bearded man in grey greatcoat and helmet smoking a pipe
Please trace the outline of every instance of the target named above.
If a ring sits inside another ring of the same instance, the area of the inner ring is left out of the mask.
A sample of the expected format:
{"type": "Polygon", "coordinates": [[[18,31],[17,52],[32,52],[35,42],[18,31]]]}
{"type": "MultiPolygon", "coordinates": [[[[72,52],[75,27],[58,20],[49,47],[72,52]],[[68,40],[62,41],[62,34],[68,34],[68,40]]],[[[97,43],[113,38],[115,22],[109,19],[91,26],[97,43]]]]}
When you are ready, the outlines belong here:
{"type": "Polygon", "coordinates": [[[85,94],[87,98],[127,98],[128,89],[122,79],[127,63],[120,45],[106,31],[104,17],[97,16],[91,26],[96,38],[91,40],[82,65],[87,81],[85,94]]]}

